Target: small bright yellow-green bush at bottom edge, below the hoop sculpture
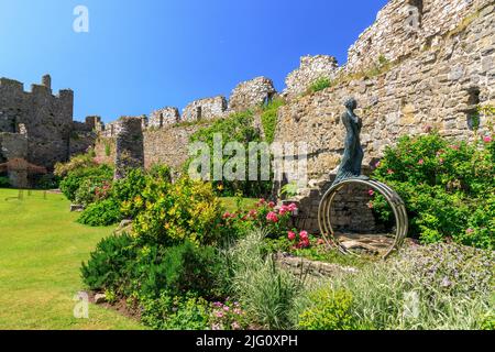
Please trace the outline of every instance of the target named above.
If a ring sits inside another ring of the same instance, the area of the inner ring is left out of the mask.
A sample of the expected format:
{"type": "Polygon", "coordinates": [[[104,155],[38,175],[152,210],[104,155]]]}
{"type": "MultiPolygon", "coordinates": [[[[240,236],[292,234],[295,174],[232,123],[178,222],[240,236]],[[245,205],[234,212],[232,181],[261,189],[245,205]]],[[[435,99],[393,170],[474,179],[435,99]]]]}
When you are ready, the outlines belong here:
{"type": "Polygon", "coordinates": [[[299,317],[302,330],[359,330],[352,311],[352,295],[320,289],[311,294],[311,307],[299,317]]]}

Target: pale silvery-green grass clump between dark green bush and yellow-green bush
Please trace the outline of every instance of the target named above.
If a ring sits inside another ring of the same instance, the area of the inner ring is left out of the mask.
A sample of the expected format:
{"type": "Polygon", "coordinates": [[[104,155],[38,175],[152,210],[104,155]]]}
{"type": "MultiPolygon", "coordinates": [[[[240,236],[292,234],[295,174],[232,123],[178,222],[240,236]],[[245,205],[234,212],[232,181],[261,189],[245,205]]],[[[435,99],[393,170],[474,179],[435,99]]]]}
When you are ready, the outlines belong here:
{"type": "Polygon", "coordinates": [[[256,324],[292,329],[302,285],[265,255],[264,238],[261,230],[255,230],[229,251],[232,293],[256,324]]]}

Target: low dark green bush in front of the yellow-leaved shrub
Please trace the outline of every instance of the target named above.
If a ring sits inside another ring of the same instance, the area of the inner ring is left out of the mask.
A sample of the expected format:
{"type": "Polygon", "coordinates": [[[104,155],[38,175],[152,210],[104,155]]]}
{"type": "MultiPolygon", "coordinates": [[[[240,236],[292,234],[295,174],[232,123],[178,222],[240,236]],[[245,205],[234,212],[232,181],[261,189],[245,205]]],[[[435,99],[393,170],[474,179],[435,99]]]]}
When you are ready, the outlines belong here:
{"type": "Polygon", "coordinates": [[[221,294],[221,266],[216,250],[191,243],[178,246],[140,246],[128,234],[102,240],[81,273],[94,290],[111,290],[120,297],[158,298],[186,293],[209,298],[221,294]]]}

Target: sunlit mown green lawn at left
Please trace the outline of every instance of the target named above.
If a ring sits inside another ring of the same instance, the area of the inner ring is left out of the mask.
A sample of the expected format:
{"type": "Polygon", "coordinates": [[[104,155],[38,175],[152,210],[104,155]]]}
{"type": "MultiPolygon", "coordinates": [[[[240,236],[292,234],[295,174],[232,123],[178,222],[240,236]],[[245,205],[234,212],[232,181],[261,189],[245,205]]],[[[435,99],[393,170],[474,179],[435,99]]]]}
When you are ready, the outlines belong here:
{"type": "Polygon", "coordinates": [[[111,228],[75,222],[61,195],[0,189],[0,330],[142,329],[118,312],[90,305],[89,319],[74,318],[73,297],[84,288],[79,266],[111,228]]]}

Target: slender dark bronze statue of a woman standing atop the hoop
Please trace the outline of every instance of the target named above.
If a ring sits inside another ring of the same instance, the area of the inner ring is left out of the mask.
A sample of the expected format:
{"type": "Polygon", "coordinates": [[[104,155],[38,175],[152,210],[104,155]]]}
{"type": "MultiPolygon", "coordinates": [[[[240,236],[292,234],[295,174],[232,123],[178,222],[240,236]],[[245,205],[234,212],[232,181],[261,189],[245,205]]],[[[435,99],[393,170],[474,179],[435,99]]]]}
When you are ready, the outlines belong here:
{"type": "Polygon", "coordinates": [[[360,133],[363,123],[354,113],[354,110],[358,108],[358,102],[354,98],[349,98],[344,106],[346,109],[344,114],[342,114],[342,123],[346,131],[344,154],[333,185],[348,178],[367,179],[367,177],[361,175],[361,164],[363,163],[364,152],[361,146],[360,133]]]}

